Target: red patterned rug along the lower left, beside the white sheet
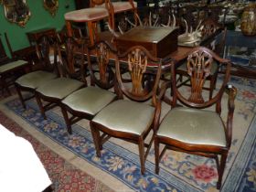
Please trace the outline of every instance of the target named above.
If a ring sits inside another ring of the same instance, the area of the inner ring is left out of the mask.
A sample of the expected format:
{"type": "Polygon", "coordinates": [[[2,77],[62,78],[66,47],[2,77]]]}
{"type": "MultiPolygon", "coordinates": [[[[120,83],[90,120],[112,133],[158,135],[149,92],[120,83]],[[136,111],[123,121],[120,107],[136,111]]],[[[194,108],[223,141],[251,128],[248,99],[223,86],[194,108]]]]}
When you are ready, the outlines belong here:
{"type": "Polygon", "coordinates": [[[0,123],[17,136],[27,139],[33,145],[48,172],[54,191],[112,191],[112,189],[106,187],[97,179],[81,172],[74,165],[70,165],[65,159],[51,151],[44,144],[39,143],[31,134],[6,117],[3,112],[0,112],[0,123]]]}

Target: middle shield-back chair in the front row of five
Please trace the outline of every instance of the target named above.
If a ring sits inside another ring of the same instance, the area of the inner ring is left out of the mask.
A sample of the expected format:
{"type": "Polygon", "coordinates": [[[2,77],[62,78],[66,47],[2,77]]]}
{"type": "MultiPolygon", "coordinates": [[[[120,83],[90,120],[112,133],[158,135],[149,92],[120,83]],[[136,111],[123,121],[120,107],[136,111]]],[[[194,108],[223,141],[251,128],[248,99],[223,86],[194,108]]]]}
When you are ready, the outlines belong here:
{"type": "Polygon", "coordinates": [[[91,86],[71,93],[62,101],[61,110],[69,133],[72,133],[71,124],[81,119],[91,120],[103,107],[117,99],[117,95],[109,91],[115,82],[110,65],[110,57],[115,52],[103,41],[87,50],[91,86]]]}

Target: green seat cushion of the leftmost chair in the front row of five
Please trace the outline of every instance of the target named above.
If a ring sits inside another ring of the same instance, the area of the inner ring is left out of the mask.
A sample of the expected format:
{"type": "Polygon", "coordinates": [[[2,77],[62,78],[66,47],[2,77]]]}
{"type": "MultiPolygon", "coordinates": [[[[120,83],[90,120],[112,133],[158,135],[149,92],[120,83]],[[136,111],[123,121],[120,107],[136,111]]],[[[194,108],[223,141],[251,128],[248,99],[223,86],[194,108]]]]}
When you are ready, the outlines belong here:
{"type": "Polygon", "coordinates": [[[27,88],[37,89],[48,80],[57,78],[57,75],[44,70],[27,73],[16,80],[16,83],[27,88]]]}

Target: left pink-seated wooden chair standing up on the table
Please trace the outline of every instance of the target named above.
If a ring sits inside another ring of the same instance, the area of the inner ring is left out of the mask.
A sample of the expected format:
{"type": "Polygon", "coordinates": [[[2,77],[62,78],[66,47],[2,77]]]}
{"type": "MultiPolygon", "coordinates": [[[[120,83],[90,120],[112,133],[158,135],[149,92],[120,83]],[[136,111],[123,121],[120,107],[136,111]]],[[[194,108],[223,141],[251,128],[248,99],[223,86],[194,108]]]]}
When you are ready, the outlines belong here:
{"type": "Polygon", "coordinates": [[[87,23],[91,45],[93,45],[95,40],[98,39],[97,23],[106,18],[109,20],[109,23],[112,23],[111,17],[109,16],[108,1],[109,0],[91,0],[89,8],[66,13],[65,20],[68,36],[73,36],[72,22],[87,23]]]}

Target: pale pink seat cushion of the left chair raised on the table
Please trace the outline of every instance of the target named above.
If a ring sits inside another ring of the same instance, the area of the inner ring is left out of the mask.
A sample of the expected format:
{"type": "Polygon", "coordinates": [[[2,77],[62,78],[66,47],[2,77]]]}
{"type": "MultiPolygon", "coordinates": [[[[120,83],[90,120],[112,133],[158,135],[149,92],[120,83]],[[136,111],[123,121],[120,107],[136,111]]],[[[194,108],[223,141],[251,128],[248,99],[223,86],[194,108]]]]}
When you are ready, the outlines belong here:
{"type": "Polygon", "coordinates": [[[65,19],[76,22],[86,22],[99,20],[109,16],[109,12],[105,7],[91,7],[76,11],[71,11],[65,14],[65,19]]]}

